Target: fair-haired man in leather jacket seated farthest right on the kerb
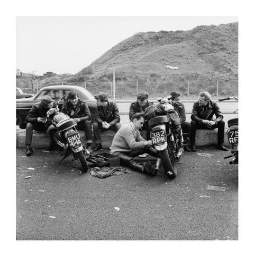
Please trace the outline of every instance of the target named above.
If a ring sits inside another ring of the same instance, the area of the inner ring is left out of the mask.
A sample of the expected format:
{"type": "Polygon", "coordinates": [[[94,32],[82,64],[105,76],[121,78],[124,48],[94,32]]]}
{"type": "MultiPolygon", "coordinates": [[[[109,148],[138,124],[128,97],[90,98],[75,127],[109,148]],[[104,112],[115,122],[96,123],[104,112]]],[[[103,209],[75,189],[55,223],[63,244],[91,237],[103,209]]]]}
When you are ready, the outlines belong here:
{"type": "Polygon", "coordinates": [[[199,93],[199,99],[193,105],[192,115],[190,117],[192,122],[190,122],[190,149],[196,151],[195,147],[195,136],[196,129],[218,129],[218,141],[217,148],[223,151],[227,151],[223,145],[224,142],[224,130],[225,122],[222,120],[223,115],[220,112],[219,106],[215,101],[211,100],[211,95],[207,91],[202,91],[199,93]],[[216,118],[213,118],[213,115],[216,118]]]}

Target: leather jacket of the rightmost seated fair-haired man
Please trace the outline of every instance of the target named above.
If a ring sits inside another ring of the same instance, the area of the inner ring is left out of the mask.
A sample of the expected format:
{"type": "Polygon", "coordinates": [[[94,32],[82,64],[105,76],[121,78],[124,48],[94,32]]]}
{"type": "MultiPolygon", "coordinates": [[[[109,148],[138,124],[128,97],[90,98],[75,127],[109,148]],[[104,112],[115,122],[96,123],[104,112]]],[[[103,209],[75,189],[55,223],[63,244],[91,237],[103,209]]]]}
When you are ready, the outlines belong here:
{"type": "Polygon", "coordinates": [[[220,112],[220,107],[215,101],[209,100],[206,105],[206,113],[204,108],[199,106],[198,101],[193,105],[192,115],[190,118],[198,123],[202,123],[203,120],[213,120],[216,124],[223,119],[223,115],[220,112]],[[216,116],[216,119],[213,119],[213,115],[216,116]]]}

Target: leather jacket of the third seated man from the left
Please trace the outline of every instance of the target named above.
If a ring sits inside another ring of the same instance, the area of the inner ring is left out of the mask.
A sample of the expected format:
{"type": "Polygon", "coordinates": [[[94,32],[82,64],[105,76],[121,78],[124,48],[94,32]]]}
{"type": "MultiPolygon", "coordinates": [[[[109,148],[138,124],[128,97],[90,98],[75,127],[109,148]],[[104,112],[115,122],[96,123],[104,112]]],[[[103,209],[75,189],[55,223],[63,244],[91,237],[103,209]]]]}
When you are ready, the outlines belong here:
{"type": "Polygon", "coordinates": [[[97,106],[95,112],[95,121],[99,124],[106,121],[111,126],[119,123],[120,114],[117,105],[113,101],[107,100],[107,105],[105,107],[97,106]]]}

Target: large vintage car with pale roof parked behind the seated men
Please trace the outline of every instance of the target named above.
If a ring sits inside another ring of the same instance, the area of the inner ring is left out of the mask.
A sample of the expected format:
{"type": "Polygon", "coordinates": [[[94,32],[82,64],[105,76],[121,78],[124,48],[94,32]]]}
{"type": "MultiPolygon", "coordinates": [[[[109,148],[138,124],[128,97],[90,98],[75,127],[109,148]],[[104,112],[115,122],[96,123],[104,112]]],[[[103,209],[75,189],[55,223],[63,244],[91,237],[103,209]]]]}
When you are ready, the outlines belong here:
{"type": "MultiPolygon", "coordinates": [[[[21,129],[25,129],[26,122],[25,117],[28,115],[30,109],[35,103],[41,101],[41,98],[45,95],[50,96],[53,100],[59,100],[64,96],[67,96],[68,92],[75,90],[77,91],[78,97],[81,100],[86,101],[88,108],[94,118],[95,108],[96,108],[96,100],[91,95],[89,91],[87,91],[83,87],[79,86],[47,86],[41,88],[37,95],[33,98],[29,99],[16,99],[16,125],[19,125],[21,129]]],[[[62,102],[59,104],[59,108],[61,109],[62,102]]]]}

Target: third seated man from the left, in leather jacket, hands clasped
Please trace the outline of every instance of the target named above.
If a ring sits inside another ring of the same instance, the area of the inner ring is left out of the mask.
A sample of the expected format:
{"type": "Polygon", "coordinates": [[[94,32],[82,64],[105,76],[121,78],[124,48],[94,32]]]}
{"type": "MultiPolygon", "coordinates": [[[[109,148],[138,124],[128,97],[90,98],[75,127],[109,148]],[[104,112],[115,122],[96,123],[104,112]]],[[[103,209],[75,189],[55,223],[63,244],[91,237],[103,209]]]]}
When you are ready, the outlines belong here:
{"type": "Polygon", "coordinates": [[[108,100],[104,92],[97,93],[94,98],[97,101],[95,122],[93,124],[94,139],[96,146],[94,151],[102,149],[100,131],[113,130],[117,132],[120,127],[120,114],[117,105],[108,100]]]}

